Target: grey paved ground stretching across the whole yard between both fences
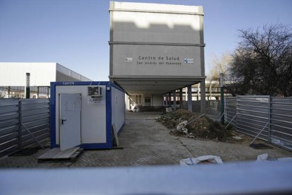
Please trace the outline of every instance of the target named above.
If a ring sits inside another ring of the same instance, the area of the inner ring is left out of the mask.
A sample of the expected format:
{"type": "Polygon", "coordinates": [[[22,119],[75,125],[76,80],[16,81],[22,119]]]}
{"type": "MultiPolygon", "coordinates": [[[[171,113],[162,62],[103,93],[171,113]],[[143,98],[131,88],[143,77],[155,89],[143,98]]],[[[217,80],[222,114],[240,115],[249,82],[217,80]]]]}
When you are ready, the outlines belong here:
{"type": "MultiPolygon", "coordinates": [[[[37,157],[47,152],[38,150],[29,156],[0,159],[0,168],[17,167],[120,167],[141,165],[178,165],[183,158],[219,155],[224,162],[256,160],[257,155],[269,153],[274,158],[292,157],[292,153],[272,146],[255,150],[243,143],[221,143],[171,136],[169,129],[156,122],[159,112],[128,112],[126,125],[119,136],[123,149],[85,150],[75,162],[37,163],[37,157]]],[[[267,144],[267,143],[265,143],[267,144]]]]}

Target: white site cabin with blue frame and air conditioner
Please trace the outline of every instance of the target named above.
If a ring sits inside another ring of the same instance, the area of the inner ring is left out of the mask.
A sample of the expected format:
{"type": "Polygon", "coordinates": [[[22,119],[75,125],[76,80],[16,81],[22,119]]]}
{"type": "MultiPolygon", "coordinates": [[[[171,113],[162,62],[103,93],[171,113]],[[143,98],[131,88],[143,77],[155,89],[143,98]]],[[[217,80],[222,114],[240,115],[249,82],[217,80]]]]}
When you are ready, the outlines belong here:
{"type": "Polygon", "coordinates": [[[112,148],[125,124],[125,93],[109,81],[51,83],[51,148],[112,148]]]}

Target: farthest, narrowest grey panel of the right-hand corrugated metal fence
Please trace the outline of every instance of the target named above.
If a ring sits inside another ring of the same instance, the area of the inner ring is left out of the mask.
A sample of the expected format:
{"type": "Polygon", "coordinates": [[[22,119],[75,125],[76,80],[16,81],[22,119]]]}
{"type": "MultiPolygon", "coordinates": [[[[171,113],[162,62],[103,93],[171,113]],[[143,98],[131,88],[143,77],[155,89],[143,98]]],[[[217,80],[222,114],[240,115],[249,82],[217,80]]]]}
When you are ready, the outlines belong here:
{"type": "Polygon", "coordinates": [[[236,97],[229,97],[225,98],[224,100],[224,120],[225,122],[231,122],[231,124],[235,127],[236,126],[236,97]],[[235,118],[233,118],[235,117],[235,118]]]}

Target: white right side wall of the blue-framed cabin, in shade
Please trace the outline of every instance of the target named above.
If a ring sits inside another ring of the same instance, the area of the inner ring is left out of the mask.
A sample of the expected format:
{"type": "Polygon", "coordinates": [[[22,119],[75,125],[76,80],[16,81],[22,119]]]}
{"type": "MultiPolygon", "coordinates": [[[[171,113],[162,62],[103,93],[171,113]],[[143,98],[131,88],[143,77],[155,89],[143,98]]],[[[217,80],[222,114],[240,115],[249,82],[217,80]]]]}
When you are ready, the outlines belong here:
{"type": "Polygon", "coordinates": [[[125,122],[125,93],[111,87],[111,124],[116,125],[116,131],[121,130],[125,122]]]}

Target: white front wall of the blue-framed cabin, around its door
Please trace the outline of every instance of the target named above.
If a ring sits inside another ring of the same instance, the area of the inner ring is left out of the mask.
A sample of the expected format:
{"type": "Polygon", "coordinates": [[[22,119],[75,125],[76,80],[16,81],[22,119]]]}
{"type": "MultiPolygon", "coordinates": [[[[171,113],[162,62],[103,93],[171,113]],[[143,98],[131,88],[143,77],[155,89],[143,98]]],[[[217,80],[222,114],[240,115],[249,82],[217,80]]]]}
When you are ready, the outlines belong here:
{"type": "Polygon", "coordinates": [[[59,93],[82,94],[81,143],[107,143],[106,91],[105,85],[99,87],[102,87],[101,101],[92,104],[88,101],[87,85],[56,85],[56,144],[59,144],[59,93]]]}

